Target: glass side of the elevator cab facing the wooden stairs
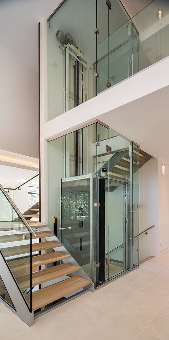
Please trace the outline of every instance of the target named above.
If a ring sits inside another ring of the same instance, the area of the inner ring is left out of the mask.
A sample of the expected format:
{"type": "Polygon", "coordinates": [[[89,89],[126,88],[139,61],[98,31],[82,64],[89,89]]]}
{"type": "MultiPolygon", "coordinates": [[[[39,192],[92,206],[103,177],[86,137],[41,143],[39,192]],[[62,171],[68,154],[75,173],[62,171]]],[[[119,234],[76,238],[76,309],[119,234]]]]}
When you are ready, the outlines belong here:
{"type": "Polygon", "coordinates": [[[96,184],[93,174],[61,181],[61,242],[92,279],[96,263],[96,184]]]}

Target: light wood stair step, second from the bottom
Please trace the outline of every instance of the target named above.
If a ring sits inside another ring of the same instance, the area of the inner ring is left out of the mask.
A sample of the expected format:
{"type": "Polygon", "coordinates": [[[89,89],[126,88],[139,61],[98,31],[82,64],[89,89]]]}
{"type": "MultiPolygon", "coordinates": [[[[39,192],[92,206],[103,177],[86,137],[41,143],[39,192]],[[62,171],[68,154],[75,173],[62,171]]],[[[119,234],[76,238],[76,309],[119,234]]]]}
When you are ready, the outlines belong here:
{"type": "MultiPolygon", "coordinates": [[[[62,263],[62,265],[42,269],[38,272],[32,273],[32,287],[44,282],[49,282],[64,275],[75,273],[79,271],[79,269],[79,267],[72,266],[70,263],[62,263]]],[[[26,276],[24,275],[19,277],[17,282],[22,290],[30,288],[30,275],[28,274],[26,276]]]]}

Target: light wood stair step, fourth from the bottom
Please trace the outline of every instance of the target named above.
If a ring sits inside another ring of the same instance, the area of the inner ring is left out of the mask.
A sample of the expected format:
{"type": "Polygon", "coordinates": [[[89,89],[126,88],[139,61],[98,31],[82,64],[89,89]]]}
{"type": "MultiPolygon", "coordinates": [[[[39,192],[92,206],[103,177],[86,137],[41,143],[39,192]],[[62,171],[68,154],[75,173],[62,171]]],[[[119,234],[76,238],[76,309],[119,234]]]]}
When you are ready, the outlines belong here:
{"type": "MultiPolygon", "coordinates": [[[[61,243],[56,243],[54,241],[33,243],[32,252],[37,252],[37,251],[45,250],[45,249],[52,249],[52,248],[56,248],[60,246],[61,246],[61,243]]],[[[18,245],[15,247],[8,247],[8,248],[1,248],[1,252],[5,257],[30,253],[30,244],[18,245]]]]}

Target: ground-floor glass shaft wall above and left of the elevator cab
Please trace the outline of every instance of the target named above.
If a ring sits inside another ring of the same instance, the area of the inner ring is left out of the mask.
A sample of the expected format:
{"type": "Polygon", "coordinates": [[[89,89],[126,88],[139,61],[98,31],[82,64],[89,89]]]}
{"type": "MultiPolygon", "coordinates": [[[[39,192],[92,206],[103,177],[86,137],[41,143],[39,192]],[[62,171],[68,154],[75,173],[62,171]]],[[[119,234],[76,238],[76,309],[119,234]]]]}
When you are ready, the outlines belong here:
{"type": "Polygon", "coordinates": [[[96,124],[48,142],[48,225],[61,227],[61,179],[95,173],[96,124]],[[59,166],[58,166],[59,165],[59,166]]]}

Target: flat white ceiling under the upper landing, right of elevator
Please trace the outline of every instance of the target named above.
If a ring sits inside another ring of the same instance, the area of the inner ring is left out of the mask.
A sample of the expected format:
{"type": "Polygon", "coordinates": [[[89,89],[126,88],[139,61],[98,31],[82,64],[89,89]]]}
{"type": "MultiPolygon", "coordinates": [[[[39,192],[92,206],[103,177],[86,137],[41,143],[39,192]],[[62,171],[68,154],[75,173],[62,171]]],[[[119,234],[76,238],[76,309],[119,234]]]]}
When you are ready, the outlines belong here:
{"type": "Polygon", "coordinates": [[[166,86],[100,115],[99,120],[169,164],[168,94],[166,86]]]}

